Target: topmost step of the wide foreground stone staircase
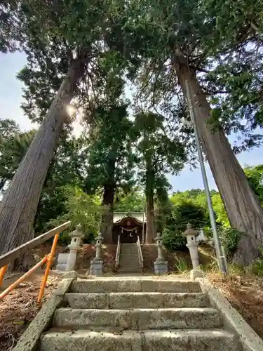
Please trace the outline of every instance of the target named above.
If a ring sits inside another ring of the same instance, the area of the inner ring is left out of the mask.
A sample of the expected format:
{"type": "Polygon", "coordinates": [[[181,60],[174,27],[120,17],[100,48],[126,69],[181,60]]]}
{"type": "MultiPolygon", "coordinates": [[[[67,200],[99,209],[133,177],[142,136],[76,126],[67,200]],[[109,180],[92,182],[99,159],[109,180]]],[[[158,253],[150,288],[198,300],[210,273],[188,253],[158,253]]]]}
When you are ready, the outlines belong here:
{"type": "Polygon", "coordinates": [[[198,282],[157,279],[78,279],[72,284],[72,293],[158,292],[199,293],[198,282]]]}

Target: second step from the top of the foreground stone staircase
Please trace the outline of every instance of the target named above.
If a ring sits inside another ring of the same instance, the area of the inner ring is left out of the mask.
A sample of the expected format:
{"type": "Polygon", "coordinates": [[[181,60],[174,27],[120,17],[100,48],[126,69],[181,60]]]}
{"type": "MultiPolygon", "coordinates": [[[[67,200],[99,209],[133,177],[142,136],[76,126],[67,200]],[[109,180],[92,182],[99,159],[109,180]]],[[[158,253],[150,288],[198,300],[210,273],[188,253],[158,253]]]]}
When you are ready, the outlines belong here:
{"type": "Polygon", "coordinates": [[[205,293],[67,293],[71,308],[208,307],[205,293]]]}

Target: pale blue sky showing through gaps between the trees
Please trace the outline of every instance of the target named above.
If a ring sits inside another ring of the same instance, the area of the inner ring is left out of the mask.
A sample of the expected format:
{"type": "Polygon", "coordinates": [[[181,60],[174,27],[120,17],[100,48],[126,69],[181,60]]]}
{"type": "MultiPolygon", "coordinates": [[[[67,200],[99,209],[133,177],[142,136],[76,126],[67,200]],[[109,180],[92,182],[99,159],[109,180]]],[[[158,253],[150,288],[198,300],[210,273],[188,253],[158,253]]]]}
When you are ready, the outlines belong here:
{"type": "MultiPolygon", "coordinates": [[[[32,124],[20,109],[20,104],[22,102],[22,84],[16,79],[16,74],[25,64],[26,58],[23,53],[0,53],[0,118],[15,119],[22,130],[29,130],[32,128],[32,124]]],[[[231,143],[234,143],[235,139],[235,135],[231,135],[229,138],[231,143]]],[[[250,152],[242,152],[238,155],[238,161],[242,166],[244,166],[244,164],[262,164],[262,154],[263,147],[256,148],[250,152]]],[[[206,165],[206,170],[210,189],[216,189],[208,165],[206,165]]],[[[203,181],[199,168],[190,171],[189,166],[186,166],[179,176],[169,176],[168,178],[174,191],[196,188],[203,189],[203,181]]]]}

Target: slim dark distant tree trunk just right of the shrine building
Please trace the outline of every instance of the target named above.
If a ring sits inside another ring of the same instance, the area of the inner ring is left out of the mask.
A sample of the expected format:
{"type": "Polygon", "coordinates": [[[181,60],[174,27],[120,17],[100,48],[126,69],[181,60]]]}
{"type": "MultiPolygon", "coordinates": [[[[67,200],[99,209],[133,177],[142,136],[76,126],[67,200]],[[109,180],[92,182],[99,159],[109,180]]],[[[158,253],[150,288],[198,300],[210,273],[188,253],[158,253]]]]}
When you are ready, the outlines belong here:
{"type": "Polygon", "coordinates": [[[154,242],[154,171],[152,168],[152,157],[151,152],[147,152],[145,155],[146,161],[146,236],[145,243],[151,244],[154,242]]]}

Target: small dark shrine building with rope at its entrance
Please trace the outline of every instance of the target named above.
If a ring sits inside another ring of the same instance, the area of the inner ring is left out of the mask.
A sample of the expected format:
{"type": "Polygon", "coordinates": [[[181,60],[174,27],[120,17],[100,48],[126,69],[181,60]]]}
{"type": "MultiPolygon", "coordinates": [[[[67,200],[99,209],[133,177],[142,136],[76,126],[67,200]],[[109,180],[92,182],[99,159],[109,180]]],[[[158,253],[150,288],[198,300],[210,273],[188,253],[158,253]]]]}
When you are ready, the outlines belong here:
{"type": "MultiPolygon", "coordinates": [[[[121,213],[122,214],[122,213],[121,213]]],[[[114,213],[114,224],[112,229],[112,242],[113,244],[118,243],[120,236],[121,243],[135,243],[137,238],[142,239],[145,232],[145,220],[144,216],[138,216],[139,213],[127,213],[124,216],[120,216],[120,213],[114,213]],[[118,216],[119,215],[119,216],[118,216]],[[140,218],[143,217],[143,218],[140,218]]],[[[141,214],[141,213],[140,213],[141,214]]]]}

